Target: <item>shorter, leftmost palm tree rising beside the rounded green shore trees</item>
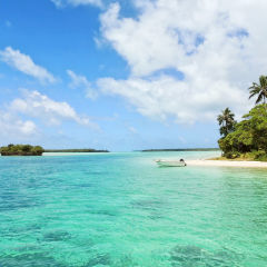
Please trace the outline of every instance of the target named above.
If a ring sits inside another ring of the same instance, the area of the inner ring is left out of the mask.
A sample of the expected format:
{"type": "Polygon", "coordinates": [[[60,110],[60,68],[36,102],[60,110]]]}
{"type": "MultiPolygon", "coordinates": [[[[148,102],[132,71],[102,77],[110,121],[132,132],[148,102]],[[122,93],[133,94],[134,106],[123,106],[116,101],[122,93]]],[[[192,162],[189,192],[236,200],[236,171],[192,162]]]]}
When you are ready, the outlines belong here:
{"type": "Polygon", "coordinates": [[[235,115],[230,111],[229,108],[226,108],[221,111],[221,115],[217,117],[217,120],[220,126],[220,135],[226,137],[229,132],[235,130],[235,115]]]}

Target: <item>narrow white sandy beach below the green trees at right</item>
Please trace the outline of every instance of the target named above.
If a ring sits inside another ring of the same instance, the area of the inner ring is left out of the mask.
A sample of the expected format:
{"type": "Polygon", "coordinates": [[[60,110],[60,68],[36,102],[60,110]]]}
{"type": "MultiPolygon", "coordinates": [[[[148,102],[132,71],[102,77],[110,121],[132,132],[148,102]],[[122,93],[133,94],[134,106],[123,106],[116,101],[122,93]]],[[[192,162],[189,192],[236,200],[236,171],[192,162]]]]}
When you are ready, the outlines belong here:
{"type": "Polygon", "coordinates": [[[208,160],[196,159],[186,160],[188,166],[204,166],[204,167],[244,167],[244,168],[267,168],[267,162],[261,161],[235,161],[235,160],[208,160]]]}

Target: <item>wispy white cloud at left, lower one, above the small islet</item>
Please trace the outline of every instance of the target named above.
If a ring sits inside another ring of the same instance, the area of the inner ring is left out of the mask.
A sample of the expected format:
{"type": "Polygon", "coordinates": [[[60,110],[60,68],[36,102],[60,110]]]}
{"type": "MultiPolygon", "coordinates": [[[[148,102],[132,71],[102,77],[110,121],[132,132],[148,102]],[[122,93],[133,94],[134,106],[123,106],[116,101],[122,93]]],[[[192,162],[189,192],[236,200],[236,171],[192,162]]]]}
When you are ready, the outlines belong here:
{"type": "Polygon", "coordinates": [[[97,127],[87,116],[78,115],[69,103],[55,101],[38,91],[24,90],[23,98],[17,98],[11,102],[10,110],[42,119],[49,125],[60,125],[63,120],[70,120],[79,125],[97,127]]]}

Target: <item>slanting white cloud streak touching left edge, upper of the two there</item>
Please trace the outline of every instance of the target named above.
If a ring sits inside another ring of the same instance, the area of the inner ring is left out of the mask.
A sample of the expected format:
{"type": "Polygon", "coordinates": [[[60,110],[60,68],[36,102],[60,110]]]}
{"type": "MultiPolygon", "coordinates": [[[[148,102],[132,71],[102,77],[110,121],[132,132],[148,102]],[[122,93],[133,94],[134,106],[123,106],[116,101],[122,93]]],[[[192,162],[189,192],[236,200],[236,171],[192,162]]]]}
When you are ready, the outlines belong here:
{"type": "Polygon", "coordinates": [[[0,50],[0,60],[26,75],[37,78],[41,82],[56,81],[56,78],[48,70],[36,65],[29,56],[21,53],[19,50],[14,50],[11,47],[0,50]]]}

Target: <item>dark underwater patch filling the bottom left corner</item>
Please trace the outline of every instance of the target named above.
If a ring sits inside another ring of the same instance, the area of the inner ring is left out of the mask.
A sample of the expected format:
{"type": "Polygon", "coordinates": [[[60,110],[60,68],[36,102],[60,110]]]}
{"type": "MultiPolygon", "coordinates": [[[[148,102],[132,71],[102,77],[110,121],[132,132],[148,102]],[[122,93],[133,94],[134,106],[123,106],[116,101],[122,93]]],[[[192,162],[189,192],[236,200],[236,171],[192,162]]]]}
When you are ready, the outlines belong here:
{"type": "Polygon", "coordinates": [[[44,253],[0,256],[0,267],[67,267],[44,253]]]}

